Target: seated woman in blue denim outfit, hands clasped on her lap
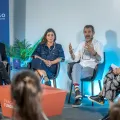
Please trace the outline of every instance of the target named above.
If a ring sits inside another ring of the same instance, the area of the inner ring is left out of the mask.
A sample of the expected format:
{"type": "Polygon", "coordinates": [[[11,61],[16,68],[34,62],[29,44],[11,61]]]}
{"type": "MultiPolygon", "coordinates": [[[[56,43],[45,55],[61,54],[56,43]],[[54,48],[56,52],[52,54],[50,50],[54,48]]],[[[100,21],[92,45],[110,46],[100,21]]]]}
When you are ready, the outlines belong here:
{"type": "Polygon", "coordinates": [[[64,51],[60,44],[55,43],[56,33],[49,28],[40,44],[33,53],[32,69],[39,76],[43,76],[46,85],[50,85],[49,79],[56,73],[57,64],[65,60],[64,51]]]}

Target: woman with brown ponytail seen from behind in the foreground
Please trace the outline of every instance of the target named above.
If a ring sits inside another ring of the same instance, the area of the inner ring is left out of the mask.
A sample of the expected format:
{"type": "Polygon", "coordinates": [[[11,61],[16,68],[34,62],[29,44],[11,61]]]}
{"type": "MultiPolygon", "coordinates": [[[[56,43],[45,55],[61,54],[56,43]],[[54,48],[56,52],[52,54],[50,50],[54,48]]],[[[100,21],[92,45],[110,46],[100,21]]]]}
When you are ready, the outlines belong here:
{"type": "Polygon", "coordinates": [[[14,76],[11,84],[14,120],[48,120],[41,109],[42,88],[34,72],[22,71],[14,76]]]}

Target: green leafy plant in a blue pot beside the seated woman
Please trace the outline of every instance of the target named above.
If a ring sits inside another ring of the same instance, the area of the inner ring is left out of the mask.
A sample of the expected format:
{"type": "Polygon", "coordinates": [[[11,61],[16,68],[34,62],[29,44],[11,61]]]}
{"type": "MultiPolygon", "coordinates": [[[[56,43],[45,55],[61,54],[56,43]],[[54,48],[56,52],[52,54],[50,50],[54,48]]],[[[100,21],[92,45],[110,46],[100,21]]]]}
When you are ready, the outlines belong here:
{"type": "Polygon", "coordinates": [[[7,56],[13,58],[13,67],[19,69],[21,65],[26,66],[29,58],[28,52],[32,49],[28,41],[15,39],[14,44],[6,46],[7,56]]]}

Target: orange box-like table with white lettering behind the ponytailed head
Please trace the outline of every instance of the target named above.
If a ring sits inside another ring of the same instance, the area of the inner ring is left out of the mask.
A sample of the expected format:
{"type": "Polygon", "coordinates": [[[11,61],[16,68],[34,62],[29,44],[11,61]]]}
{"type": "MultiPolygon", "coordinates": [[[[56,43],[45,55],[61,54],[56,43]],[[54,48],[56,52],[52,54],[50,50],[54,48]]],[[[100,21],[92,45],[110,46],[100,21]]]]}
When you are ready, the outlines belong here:
{"type": "MultiPolygon", "coordinates": [[[[62,114],[66,99],[66,91],[42,85],[42,109],[47,116],[57,116],[62,114]]],[[[0,86],[0,101],[2,114],[5,117],[12,117],[13,102],[11,100],[10,86],[0,86]]]]}

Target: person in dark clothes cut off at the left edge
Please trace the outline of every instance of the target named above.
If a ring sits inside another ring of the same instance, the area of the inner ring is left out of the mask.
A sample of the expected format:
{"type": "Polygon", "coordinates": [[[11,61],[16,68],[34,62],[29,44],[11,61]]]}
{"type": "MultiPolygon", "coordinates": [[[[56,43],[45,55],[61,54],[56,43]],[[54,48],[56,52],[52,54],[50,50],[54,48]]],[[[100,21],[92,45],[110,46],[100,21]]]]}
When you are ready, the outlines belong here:
{"type": "Polygon", "coordinates": [[[0,85],[3,85],[3,82],[5,84],[10,84],[10,78],[6,70],[7,65],[7,56],[5,51],[5,45],[3,43],[0,43],[0,85]]]}

